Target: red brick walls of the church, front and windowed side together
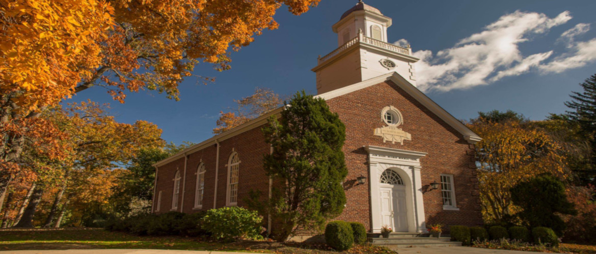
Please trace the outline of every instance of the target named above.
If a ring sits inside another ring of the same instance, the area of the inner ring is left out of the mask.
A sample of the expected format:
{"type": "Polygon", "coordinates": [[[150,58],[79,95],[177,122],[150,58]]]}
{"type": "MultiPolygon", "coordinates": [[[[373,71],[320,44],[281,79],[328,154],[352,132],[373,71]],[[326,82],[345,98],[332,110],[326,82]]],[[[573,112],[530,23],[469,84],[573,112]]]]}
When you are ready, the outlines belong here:
{"type": "MultiPolygon", "coordinates": [[[[477,189],[476,171],[473,167],[473,149],[462,139],[462,135],[454,128],[440,120],[439,117],[424,108],[419,102],[398,86],[388,81],[356,92],[342,95],[327,101],[330,109],[337,112],[346,125],[346,143],[343,151],[346,155],[348,175],[344,183],[347,205],[338,219],[358,221],[370,229],[370,190],[369,184],[356,184],[356,177],[364,175],[370,180],[368,173],[367,152],[365,145],[383,146],[427,152],[421,159],[421,176],[423,186],[433,181],[440,182],[440,174],[453,174],[455,195],[460,211],[444,211],[440,190],[425,192],[424,212],[427,224],[441,222],[446,225],[479,225],[482,224],[477,189]],[[374,136],[374,129],[383,127],[381,109],[393,105],[401,111],[403,124],[399,126],[412,134],[412,141],[406,140],[403,145],[383,143],[383,139],[374,136]]],[[[229,155],[232,149],[240,157],[240,178],[238,183],[238,205],[244,205],[244,198],[249,197],[251,189],[260,190],[265,200],[268,195],[269,179],[263,170],[263,155],[269,153],[269,145],[265,143],[260,127],[220,142],[219,175],[217,191],[217,208],[225,206],[228,177],[229,155]]],[[[193,209],[196,171],[201,162],[206,165],[203,210],[213,208],[215,192],[215,145],[188,155],[187,174],[185,179],[184,212],[195,212],[193,209]]],[[[184,174],[184,158],[177,159],[159,167],[157,193],[162,190],[161,212],[170,211],[172,205],[173,175],[176,167],[184,174]]],[[[182,198],[182,194],[180,195],[182,198]]],[[[178,211],[180,205],[178,206],[178,211]]],[[[266,219],[266,218],[265,218],[266,219]]]]}

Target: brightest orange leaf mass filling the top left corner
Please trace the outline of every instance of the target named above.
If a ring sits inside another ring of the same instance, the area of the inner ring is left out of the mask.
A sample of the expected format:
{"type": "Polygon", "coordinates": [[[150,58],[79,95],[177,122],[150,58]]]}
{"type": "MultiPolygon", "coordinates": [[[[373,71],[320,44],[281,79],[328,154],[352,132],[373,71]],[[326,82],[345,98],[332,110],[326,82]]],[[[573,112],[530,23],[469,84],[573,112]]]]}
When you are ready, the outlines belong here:
{"type": "Polygon", "coordinates": [[[0,89],[25,108],[72,95],[100,64],[98,42],[113,24],[113,8],[97,0],[2,0],[0,10],[0,89]]]}

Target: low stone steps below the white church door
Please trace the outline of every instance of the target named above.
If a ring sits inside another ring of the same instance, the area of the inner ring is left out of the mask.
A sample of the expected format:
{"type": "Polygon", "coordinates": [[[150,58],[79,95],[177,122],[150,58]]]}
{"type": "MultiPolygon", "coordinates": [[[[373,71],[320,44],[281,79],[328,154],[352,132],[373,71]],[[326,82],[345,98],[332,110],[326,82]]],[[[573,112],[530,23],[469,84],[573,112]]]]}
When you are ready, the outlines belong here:
{"type": "Polygon", "coordinates": [[[383,238],[379,233],[369,233],[368,242],[395,248],[461,246],[461,242],[451,242],[448,236],[436,238],[429,237],[429,234],[411,232],[391,233],[389,238],[383,238]]]}

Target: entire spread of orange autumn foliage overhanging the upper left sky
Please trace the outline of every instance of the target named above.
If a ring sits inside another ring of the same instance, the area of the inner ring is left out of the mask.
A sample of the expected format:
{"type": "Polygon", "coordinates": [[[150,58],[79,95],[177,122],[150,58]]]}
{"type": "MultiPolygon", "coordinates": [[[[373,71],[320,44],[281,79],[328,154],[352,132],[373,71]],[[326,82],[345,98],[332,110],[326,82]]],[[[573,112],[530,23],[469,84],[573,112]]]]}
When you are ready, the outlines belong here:
{"type": "Polygon", "coordinates": [[[226,70],[230,50],[277,28],[282,4],[299,15],[318,1],[0,0],[0,89],[25,111],[92,86],[177,99],[198,62],[226,70]]]}

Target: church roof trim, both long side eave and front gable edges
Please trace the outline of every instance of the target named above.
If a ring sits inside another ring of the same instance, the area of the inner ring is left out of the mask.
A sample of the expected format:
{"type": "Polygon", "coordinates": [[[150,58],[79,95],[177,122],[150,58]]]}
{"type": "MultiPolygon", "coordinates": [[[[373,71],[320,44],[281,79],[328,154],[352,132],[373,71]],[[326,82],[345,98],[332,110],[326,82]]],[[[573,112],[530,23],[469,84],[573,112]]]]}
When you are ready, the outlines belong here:
{"type": "MultiPolygon", "coordinates": [[[[467,140],[468,143],[473,144],[482,140],[478,134],[474,133],[474,131],[470,130],[470,128],[466,127],[460,120],[457,120],[453,115],[449,114],[449,112],[445,111],[445,109],[441,108],[436,102],[430,99],[428,96],[424,95],[423,92],[418,90],[412,83],[409,83],[408,80],[404,79],[401,75],[396,72],[384,74],[378,77],[374,77],[373,79],[364,80],[362,82],[351,84],[349,86],[344,86],[342,88],[331,90],[327,93],[322,93],[320,95],[315,95],[315,98],[322,98],[325,101],[329,99],[336,98],[338,96],[346,95],[347,93],[355,92],[360,89],[364,89],[369,86],[374,86],[378,83],[383,83],[384,81],[393,81],[397,86],[401,89],[405,90],[409,95],[411,95],[415,100],[420,102],[423,106],[430,109],[431,112],[436,114],[441,120],[445,121],[445,123],[449,124],[449,126],[455,128],[459,133],[464,136],[464,139],[467,140]]],[[[274,111],[268,112],[266,114],[261,115],[260,117],[254,118],[253,120],[248,121],[247,123],[241,124],[240,126],[234,127],[231,130],[225,131],[222,134],[216,135],[211,137],[210,139],[204,140],[201,143],[191,146],[190,148],[184,149],[175,155],[169,156],[162,161],[156,162],[153,164],[154,167],[159,167],[161,165],[167,164],[168,162],[175,161],[176,159],[183,158],[184,156],[196,152],[198,150],[205,149],[209,146],[216,145],[223,140],[229,139],[231,137],[237,136],[238,134],[244,133],[246,131],[252,130],[253,128],[262,126],[267,122],[267,119],[271,117],[271,115],[278,115],[280,114],[283,106],[275,109],[274,111]]]]}

